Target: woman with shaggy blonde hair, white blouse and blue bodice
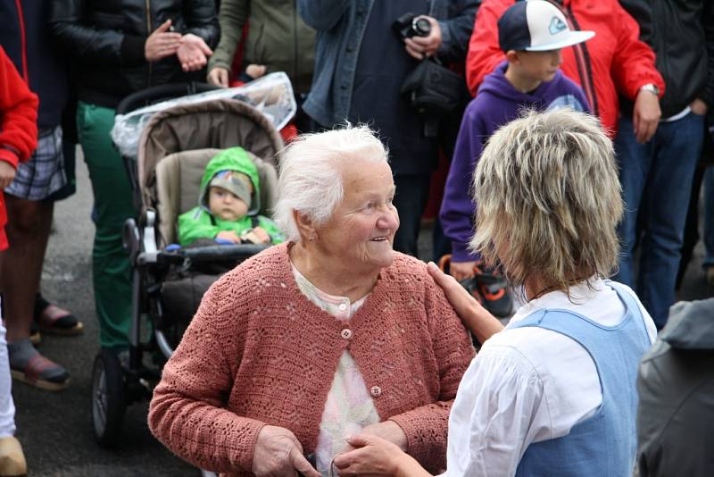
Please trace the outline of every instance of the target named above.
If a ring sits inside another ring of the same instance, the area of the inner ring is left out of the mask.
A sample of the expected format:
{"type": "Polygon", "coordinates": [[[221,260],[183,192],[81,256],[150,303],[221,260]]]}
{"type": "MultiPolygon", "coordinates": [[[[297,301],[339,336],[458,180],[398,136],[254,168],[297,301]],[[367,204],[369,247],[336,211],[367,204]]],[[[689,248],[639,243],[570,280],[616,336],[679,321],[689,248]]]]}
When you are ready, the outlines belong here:
{"type": "MultiPolygon", "coordinates": [[[[449,418],[447,475],[629,475],[635,375],[656,336],[631,289],[605,280],[622,215],[610,139],[592,116],[527,113],[488,142],[474,177],[471,247],[526,298],[508,326],[430,264],[461,318],[493,334],[449,418]]],[[[380,439],[335,459],[339,474],[428,475],[380,439]]]]}

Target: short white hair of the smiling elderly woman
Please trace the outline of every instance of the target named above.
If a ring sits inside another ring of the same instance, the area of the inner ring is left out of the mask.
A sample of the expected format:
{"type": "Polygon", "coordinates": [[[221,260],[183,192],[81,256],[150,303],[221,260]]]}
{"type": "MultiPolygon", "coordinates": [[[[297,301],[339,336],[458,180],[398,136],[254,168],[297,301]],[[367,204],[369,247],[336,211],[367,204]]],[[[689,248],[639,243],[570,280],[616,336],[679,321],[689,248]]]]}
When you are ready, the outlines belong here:
{"type": "Polygon", "coordinates": [[[340,129],[303,134],[286,147],[273,218],[288,241],[300,241],[293,211],[316,226],[328,221],[343,197],[341,165],[355,160],[387,160],[386,147],[366,125],[347,123],[340,129]]]}

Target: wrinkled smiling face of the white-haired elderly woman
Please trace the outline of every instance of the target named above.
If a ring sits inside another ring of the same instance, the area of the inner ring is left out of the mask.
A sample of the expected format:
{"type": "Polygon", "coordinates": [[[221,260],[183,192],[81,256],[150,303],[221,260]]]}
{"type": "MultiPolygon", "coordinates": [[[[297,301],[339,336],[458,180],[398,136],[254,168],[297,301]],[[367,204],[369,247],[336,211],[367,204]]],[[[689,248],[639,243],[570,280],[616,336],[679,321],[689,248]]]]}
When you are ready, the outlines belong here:
{"type": "Polygon", "coordinates": [[[316,246],[340,267],[378,272],[394,260],[399,228],[392,170],[386,162],[349,161],[343,167],[343,188],[342,202],[317,229],[316,246]]]}

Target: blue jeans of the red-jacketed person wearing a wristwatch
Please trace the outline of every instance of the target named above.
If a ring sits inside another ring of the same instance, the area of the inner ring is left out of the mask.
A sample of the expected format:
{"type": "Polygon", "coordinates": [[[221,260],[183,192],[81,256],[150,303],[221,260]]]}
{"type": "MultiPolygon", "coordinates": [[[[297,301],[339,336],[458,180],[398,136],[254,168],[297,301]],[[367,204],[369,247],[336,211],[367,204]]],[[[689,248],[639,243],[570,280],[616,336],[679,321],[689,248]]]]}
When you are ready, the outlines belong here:
{"type": "Polygon", "coordinates": [[[694,168],[702,149],[703,117],[693,113],[660,122],[652,139],[639,144],[631,118],[619,120],[615,150],[625,201],[619,225],[622,252],[614,280],[635,289],[658,329],[675,301],[675,281],[684,238],[694,168]],[[639,226],[639,227],[638,227],[639,226]],[[633,253],[640,238],[635,283],[633,253]]]}

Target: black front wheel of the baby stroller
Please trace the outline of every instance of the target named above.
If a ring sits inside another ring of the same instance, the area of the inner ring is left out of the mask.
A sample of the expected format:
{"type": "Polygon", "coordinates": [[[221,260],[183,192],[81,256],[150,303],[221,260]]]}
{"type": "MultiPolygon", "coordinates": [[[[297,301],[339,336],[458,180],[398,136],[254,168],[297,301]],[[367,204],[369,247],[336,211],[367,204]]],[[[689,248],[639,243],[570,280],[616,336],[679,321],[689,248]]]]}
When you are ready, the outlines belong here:
{"type": "Polygon", "coordinates": [[[113,447],[121,431],[127,408],[124,376],[119,358],[110,349],[102,349],[92,370],[92,424],[96,442],[113,447]]]}

